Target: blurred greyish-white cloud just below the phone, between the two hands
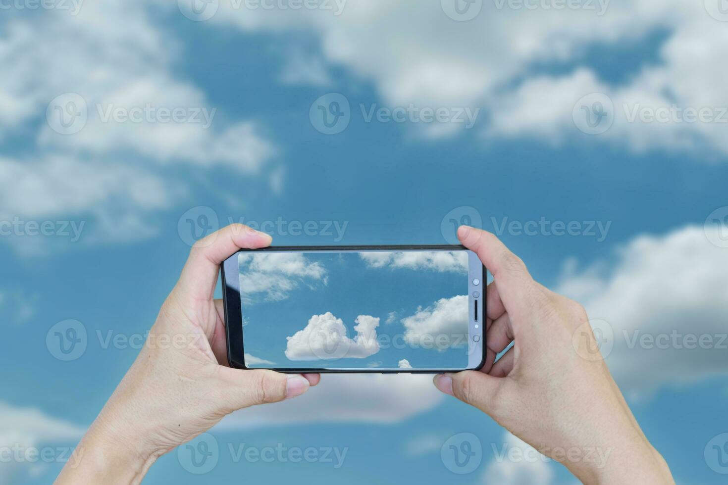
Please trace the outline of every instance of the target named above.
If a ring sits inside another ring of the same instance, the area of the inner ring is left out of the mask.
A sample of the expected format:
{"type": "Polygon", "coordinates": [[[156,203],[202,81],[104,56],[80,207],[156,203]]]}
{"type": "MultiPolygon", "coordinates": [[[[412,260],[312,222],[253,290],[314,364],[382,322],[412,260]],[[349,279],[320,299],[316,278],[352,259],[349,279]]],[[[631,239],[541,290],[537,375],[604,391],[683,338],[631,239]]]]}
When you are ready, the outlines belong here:
{"type": "Polygon", "coordinates": [[[389,424],[429,411],[443,400],[432,376],[325,374],[296,399],[253,406],[226,417],[223,428],[254,428],[310,422],[389,424]]]}

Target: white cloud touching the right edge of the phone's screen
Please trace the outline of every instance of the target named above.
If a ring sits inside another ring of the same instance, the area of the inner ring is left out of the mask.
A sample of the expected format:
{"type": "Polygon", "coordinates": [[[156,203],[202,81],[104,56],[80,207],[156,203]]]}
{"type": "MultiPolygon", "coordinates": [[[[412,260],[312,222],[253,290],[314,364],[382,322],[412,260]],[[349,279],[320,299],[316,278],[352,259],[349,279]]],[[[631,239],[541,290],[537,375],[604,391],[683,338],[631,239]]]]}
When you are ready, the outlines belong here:
{"type": "Polygon", "coordinates": [[[439,350],[467,345],[467,300],[467,294],[440,298],[434,305],[420,308],[414,315],[402,318],[405,342],[439,350]]]}

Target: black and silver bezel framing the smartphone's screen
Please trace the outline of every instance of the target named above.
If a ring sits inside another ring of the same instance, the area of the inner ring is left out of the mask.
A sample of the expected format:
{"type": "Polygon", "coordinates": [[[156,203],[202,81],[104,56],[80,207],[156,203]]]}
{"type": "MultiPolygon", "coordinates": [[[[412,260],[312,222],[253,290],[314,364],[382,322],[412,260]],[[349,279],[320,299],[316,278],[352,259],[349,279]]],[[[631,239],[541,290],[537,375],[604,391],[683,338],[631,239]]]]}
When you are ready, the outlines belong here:
{"type": "MultiPolygon", "coordinates": [[[[221,266],[222,273],[222,289],[223,289],[223,307],[225,312],[225,332],[227,341],[227,357],[230,366],[237,369],[272,369],[277,372],[288,374],[300,373],[322,373],[322,374],[440,374],[441,372],[458,372],[459,370],[478,370],[486,360],[486,332],[485,332],[485,316],[486,316],[486,284],[487,270],[481,263],[479,268],[480,274],[471,273],[470,260],[475,255],[470,249],[462,245],[451,244],[394,244],[394,245],[376,245],[376,246],[268,246],[260,249],[240,249],[230,257],[228,257],[221,266]],[[469,253],[468,256],[468,366],[464,369],[320,369],[317,367],[301,367],[301,368],[261,368],[248,367],[245,365],[245,349],[242,335],[242,324],[229,324],[230,322],[242,322],[242,306],[240,303],[240,268],[238,265],[237,255],[240,252],[303,252],[303,251],[323,251],[323,252],[357,252],[357,251],[462,251],[469,253]],[[234,278],[226,278],[226,273],[234,275],[234,278]],[[474,286],[472,280],[478,277],[480,284],[474,286]],[[473,292],[480,293],[477,299],[472,296],[473,292]],[[473,303],[478,300],[478,322],[473,321],[473,303]],[[478,324],[478,329],[475,329],[478,324]],[[478,335],[478,342],[473,340],[473,336],[478,335]],[[480,358],[478,358],[480,356],[480,358]],[[477,363],[477,364],[476,364],[477,363]]],[[[475,255],[477,258],[477,255],[475,255]]]]}

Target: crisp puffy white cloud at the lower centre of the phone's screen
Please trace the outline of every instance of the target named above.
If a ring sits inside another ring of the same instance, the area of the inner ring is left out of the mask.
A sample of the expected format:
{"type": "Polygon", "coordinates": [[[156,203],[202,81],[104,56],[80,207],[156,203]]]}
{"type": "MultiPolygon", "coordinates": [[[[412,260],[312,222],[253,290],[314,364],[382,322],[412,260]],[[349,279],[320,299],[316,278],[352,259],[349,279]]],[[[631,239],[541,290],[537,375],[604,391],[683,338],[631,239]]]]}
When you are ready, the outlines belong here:
{"type": "Polygon", "coordinates": [[[347,337],[347,326],[331,312],[314,315],[303,330],[286,337],[285,356],[292,361],[335,358],[366,358],[379,352],[376,327],[379,318],[360,315],[355,319],[356,336],[347,337]]]}

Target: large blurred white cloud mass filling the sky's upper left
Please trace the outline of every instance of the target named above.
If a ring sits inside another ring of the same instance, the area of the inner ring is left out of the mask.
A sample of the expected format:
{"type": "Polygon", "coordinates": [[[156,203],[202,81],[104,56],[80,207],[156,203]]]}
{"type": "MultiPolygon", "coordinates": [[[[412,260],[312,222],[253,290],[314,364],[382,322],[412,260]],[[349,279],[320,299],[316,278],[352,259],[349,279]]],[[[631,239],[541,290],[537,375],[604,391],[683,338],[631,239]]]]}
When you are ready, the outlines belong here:
{"type": "MultiPolygon", "coordinates": [[[[181,44],[150,19],[148,4],[111,0],[84,2],[78,15],[25,13],[7,11],[0,38],[0,142],[16,134],[33,140],[23,156],[3,156],[0,145],[0,193],[20,194],[2,204],[3,217],[72,213],[89,223],[87,241],[149,236],[159,227],[151,216],[188,193],[171,164],[253,175],[274,155],[259,127],[211,116],[205,93],[176,78],[181,44]],[[138,122],[103,120],[109,110],[148,106],[154,114],[145,111],[138,122]],[[159,108],[184,111],[183,121],[162,122],[159,108]],[[209,127],[195,121],[205,110],[209,127]],[[87,119],[79,132],[60,135],[51,126],[61,113],[87,119]]],[[[15,246],[26,252],[41,243],[23,241],[15,246]]]]}

